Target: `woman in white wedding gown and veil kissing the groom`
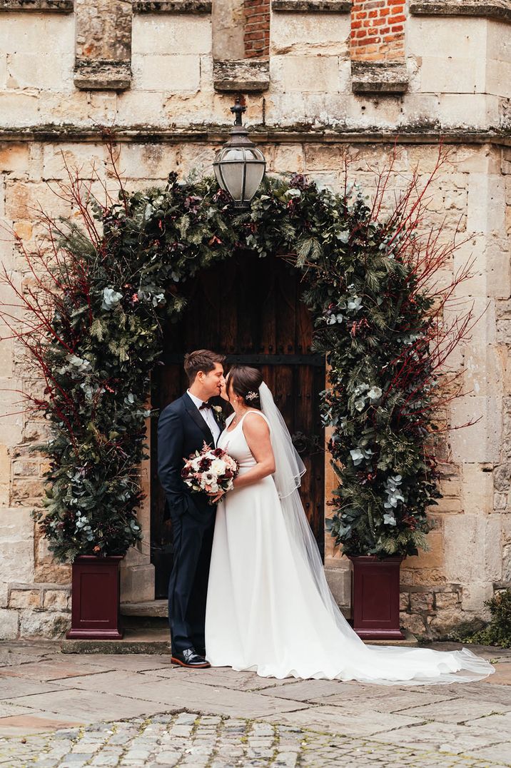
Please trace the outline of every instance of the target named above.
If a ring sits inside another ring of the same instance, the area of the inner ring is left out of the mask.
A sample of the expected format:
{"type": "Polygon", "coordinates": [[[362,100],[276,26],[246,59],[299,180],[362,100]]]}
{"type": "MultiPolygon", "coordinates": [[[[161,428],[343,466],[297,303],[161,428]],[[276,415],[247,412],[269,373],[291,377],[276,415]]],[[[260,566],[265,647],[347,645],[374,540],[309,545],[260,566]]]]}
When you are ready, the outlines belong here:
{"type": "Polygon", "coordinates": [[[261,677],[400,685],[491,674],[486,660],[464,648],[360,640],[328,588],[298,492],[305,468],[260,371],[235,366],[222,396],[234,414],[217,446],[237,459],[240,472],[217,508],[206,609],[211,665],[261,677]]]}

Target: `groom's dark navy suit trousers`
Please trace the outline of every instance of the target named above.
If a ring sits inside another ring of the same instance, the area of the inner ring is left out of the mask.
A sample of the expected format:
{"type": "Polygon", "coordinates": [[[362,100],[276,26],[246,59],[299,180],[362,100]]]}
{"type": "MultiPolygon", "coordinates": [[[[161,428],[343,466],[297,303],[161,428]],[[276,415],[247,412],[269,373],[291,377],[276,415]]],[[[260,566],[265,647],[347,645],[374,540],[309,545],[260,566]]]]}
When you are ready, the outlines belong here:
{"type": "Polygon", "coordinates": [[[214,509],[204,521],[172,514],[174,563],[168,584],[172,653],[205,647],[207,580],[214,533],[214,509]]]}

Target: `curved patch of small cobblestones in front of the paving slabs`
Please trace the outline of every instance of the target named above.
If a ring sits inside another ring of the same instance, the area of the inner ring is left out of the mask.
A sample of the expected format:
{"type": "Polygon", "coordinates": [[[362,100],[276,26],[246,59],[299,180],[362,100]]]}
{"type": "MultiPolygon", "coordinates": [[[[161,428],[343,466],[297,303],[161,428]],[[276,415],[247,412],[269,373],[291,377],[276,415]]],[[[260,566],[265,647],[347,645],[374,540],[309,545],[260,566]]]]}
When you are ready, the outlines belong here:
{"type": "Polygon", "coordinates": [[[0,765],[79,766],[508,766],[448,751],[427,750],[259,720],[197,713],[142,719],[0,739],[0,765]]]}

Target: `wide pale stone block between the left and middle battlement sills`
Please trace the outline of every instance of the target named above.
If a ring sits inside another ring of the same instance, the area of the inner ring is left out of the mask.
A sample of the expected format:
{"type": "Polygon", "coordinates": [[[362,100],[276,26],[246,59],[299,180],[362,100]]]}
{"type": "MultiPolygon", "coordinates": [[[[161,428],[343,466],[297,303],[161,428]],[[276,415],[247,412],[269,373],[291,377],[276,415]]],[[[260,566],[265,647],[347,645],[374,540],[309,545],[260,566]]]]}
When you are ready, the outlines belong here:
{"type": "Polygon", "coordinates": [[[133,87],[142,91],[197,91],[201,83],[196,55],[133,55],[133,87]]]}

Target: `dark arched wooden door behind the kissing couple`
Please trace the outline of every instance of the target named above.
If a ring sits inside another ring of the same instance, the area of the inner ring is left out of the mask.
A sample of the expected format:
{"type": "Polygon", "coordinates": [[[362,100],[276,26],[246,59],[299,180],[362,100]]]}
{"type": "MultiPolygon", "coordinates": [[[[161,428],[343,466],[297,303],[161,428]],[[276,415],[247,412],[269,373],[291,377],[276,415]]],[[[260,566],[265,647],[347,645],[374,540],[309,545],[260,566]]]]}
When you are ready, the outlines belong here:
{"type": "MultiPolygon", "coordinates": [[[[187,310],[164,336],[163,365],[154,370],[152,406],[163,409],[187,389],[183,356],[214,349],[234,362],[262,369],[267,385],[294,435],[307,472],[300,495],[320,551],[324,552],[324,436],[319,392],[325,362],[310,352],[313,326],[300,301],[300,273],[277,258],[237,253],[184,286],[187,310]]],[[[220,400],[218,402],[221,402],[220,400]]],[[[170,521],[163,521],[164,494],[158,482],[156,422],[151,436],[151,561],[155,597],[167,596],[171,569],[170,521]]]]}

